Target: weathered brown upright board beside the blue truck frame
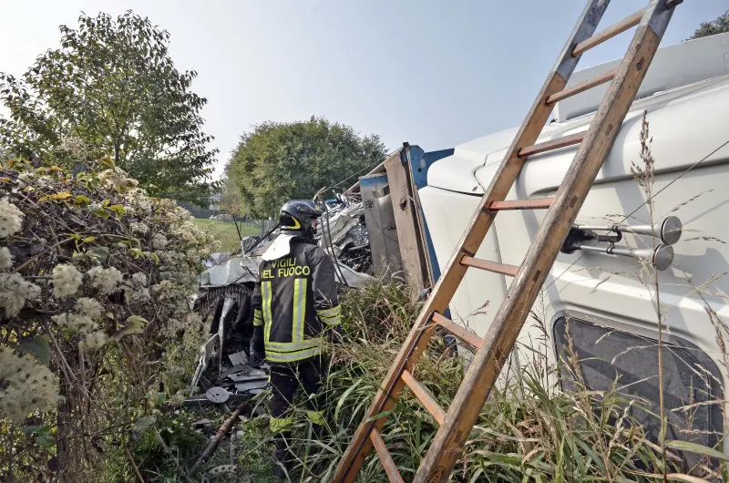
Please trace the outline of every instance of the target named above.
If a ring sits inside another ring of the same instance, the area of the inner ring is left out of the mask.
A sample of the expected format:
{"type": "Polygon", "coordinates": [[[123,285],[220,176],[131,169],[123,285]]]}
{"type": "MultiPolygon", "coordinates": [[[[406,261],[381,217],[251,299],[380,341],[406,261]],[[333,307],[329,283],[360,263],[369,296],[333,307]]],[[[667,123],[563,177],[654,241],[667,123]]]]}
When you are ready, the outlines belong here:
{"type": "Polygon", "coordinates": [[[426,287],[426,251],[417,224],[416,206],[411,192],[410,172],[400,159],[400,151],[385,160],[390,196],[393,200],[400,259],[411,295],[415,298],[426,287]]]}

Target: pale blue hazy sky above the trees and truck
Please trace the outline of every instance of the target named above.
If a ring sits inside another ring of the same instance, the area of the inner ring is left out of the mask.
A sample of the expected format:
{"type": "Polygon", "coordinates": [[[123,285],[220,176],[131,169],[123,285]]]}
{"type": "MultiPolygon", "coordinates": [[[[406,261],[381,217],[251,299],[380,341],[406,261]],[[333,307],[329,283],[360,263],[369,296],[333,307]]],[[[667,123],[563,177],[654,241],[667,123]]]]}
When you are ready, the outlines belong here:
{"type": "MultiPolygon", "coordinates": [[[[612,0],[600,28],[647,5],[612,0]]],[[[585,0],[0,0],[0,71],[22,74],[58,46],[81,11],[147,15],[171,35],[180,69],[208,98],[218,173],[243,132],[265,120],[324,116],[376,133],[389,149],[457,144],[517,126],[585,0]]],[[[662,45],[691,36],[728,0],[686,0],[662,45]]],[[[582,57],[621,57],[631,33],[582,57]]]]}

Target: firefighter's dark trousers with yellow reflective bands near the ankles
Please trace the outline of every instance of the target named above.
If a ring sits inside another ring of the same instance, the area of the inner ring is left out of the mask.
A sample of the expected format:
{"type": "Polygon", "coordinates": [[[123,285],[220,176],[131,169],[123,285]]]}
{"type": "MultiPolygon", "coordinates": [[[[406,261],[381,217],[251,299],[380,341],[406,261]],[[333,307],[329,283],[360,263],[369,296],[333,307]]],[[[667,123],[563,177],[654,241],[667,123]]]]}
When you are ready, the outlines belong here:
{"type": "Polygon", "coordinates": [[[314,430],[323,425],[320,389],[323,379],[322,358],[315,356],[303,361],[271,366],[271,431],[276,447],[276,459],[290,466],[293,455],[289,451],[293,423],[293,398],[301,387],[306,396],[306,416],[314,430]]]}

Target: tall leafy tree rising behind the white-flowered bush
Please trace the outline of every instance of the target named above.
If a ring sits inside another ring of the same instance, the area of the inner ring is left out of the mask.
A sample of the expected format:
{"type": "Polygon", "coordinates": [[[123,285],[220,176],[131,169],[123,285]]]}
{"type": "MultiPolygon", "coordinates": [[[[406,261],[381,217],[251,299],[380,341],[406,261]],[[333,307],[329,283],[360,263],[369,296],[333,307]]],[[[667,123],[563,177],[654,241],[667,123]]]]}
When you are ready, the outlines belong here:
{"type": "Polygon", "coordinates": [[[197,73],[173,66],[169,33],[131,11],[78,22],[22,78],[0,73],[0,147],[66,166],[108,154],[150,195],[206,204],[218,149],[201,130],[207,99],[190,91],[197,73]]]}

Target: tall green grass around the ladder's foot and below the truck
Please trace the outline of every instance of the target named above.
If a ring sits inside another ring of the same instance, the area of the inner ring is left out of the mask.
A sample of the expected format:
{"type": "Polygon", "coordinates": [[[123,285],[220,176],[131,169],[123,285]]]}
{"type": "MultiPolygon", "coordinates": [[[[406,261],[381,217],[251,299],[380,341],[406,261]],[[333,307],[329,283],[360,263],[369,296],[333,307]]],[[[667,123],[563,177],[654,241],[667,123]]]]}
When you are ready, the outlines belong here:
{"type": "MultiPolygon", "coordinates": [[[[325,391],[327,426],[315,437],[303,400],[299,400],[292,441],[298,465],[291,481],[331,479],[419,308],[409,301],[406,288],[395,283],[378,282],[350,291],[342,302],[345,341],[332,347],[325,391]]],[[[557,385],[546,382],[545,375],[553,374],[556,368],[546,365],[546,355],[539,354],[539,348],[533,354],[515,379],[492,392],[451,480],[662,481],[661,447],[650,441],[631,417],[631,407],[640,401],[621,395],[617,389],[595,392],[580,385],[577,391],[563,394],[557,385]]],[[[462,361],[452,347],[435,337],[416,365],[416,378],[442,407],[449,405],[461,382],[462,361]]],[[[266,396],[262,395],[261,404],[266,396]]],[[[210,417],[210,413],[204,416],[210,417]]],[[[235,440],[222,445],[202,471],[232,465],[230,478],[237,479],[229,481],[275,481],[272,435],[265,416],[245,420],[239,428],[235,440]]],[[[406,481],[413,478],[436,430],[436,422],[423,406],[404,393],[388,416],[382,435],[406,481]]],[[[196,452],[203,446],[200,442],[196,452]]],[[[704,454],[715,454],[710,448],[703,450],[704,454]]],[[[186,468],[192,465],[191,460],[180,459],[176,469],[167,461],[166,468],[172,468],[168,480],[189,476],[186,468]]],[[[665,472],[672,481],[715,479],[706,462],[704,458],[693,468],[683,468],[678,455],[669,451],[665,472]]],[[[367,460],[357,481],[387,481],[376,457],[367,460]]]]}

